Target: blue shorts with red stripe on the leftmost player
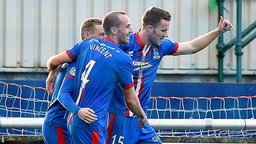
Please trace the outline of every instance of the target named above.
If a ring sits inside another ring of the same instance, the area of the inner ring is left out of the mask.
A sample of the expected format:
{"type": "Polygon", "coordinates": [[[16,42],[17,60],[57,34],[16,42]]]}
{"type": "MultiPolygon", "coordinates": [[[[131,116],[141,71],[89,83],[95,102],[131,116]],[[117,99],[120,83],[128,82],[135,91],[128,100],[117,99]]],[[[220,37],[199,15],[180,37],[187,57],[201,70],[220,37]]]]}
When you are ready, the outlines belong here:
{"type": "Polygon", "coordinates": [[[42,132],[45,144],[71,144],[67,128],[59,128],[43,123],[42,132]]]}

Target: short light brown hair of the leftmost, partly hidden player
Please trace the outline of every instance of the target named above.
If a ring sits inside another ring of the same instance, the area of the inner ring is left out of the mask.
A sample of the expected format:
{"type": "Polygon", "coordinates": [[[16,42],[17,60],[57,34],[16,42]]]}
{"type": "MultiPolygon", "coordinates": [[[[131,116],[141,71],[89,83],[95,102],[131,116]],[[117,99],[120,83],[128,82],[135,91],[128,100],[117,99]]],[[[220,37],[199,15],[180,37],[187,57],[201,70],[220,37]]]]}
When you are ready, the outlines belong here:
{"type": "Polygon", "coordinates": [[[90,32],[94,33],[95,30],[95,25],[101,25],[102,20],[98,18],[88,18],[85,21],[82,22],[80,26],[80,39],[83,41],[85,40],[84,33],[85,32],[90,32]]]}

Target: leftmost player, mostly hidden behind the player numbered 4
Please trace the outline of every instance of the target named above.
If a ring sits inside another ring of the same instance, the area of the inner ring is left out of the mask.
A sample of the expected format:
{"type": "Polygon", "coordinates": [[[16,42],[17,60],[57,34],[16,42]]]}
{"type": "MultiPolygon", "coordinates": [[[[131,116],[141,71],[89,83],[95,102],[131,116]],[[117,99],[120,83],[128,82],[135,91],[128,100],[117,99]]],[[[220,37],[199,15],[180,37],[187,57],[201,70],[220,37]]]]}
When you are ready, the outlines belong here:
{"type": "MultiPolygon", "coordinates": [[[[88,18],[83,21],[80,26],[80,39],[103,38],[104,31],[101,26],[102,20],[98,18],[88,18]]],[[[46,112],[46,117],[42,126],[43,138],[46,144],[70,144],[70,134],[67,129],[67,120],[64,119],[66,108],[64,108],[59,101],[57,101],[57,95],[59,88],[62,84],[64,77],[68,77],[73,80],[75,76],[76,62],[70,62],[63,64],[58,76],[56,71],[50,71],[48,78],[46,79],[46,87],[49,94],[53,94],[52,101],[46,112]],[[56,80],[55,86],[53,80],[56,80]],[[53,86],[55,89],[53,90],[53,86]]],[[[84,113],[87,114],[87,113],[84,113]]]]}

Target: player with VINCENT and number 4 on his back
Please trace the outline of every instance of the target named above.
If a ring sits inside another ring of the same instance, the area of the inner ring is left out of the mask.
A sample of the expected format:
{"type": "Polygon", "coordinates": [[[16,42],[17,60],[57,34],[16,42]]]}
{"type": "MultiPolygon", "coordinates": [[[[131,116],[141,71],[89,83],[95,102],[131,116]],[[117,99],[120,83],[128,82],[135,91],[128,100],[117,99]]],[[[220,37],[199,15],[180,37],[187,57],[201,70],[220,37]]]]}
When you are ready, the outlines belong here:
{"type": "MultiPolygon", "coordinates": [[[[48,69],[53,70],[59,64],[77,60],[76,76],[73,83],[71,101],[70,87],[62,85],[59,101],[72,113],[70,123],[71,140],[75,144],[105,144],[107,139],[107,105],[118,83],[123,87],[127,106],[139,117],[139,126],[146,124],[146,114],[139,104],[133,86],[132,59],[118,48],[121,43],[129,43],[133,32],[129,17],[121,11],[111,11],[103,19],[103,29],[107,35],[103,39],[85,40],[73,48],[48,59],[48,69]],[[66,101],[66,102],[65,102],[66,101]],[[90,121],[79,117],[74,112],[83,107],[91,108],[97,120],[90,121]]],[[[58,97],[59,97],[58,96],[58,97]]],[[[121,96],[119,99],[123,99],[121,96]]]]}

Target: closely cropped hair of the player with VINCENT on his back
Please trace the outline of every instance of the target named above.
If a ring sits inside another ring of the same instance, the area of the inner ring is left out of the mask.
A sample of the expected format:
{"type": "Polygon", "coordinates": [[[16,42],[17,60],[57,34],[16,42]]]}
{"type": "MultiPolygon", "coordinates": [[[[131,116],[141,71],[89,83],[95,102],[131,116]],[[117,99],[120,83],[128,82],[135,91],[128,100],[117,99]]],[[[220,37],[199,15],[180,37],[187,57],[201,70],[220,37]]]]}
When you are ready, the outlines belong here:
{"type": "Polygon", "coordinates": [[[111,27],[119,27],[119,25],[121,24],[121,21],[118,16],[121,14],[127,15],[123,11],[110,11],[105,15],[102,21],[102,27],[106,35],[110,34],[111,27]]]}

